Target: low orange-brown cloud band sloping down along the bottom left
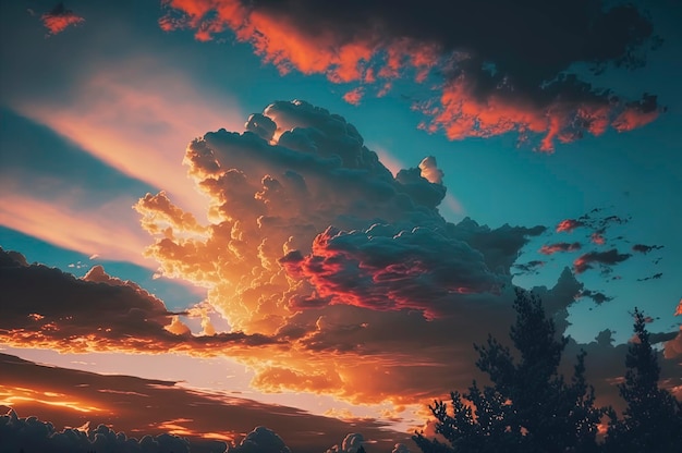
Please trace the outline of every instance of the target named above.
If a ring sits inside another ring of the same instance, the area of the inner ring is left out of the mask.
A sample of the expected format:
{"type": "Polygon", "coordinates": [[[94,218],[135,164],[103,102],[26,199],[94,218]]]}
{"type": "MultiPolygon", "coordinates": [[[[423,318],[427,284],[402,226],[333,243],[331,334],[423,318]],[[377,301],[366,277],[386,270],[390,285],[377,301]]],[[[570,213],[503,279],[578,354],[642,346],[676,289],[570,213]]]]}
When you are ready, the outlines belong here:
{"type": "MultiPolygon", "coordinates": [[[[0,354],[0,366],[3,372],[0,404],[20,415],[31,413],[49,420],[57,430],[89,421],[90,427],[106,424],[113,432],[124,431],[127,437],[138,439],[171,431],[188,439],[193,451],[223,451],[226,441],[239,443],[261,425],[280,432],[293,451],[325,451],[354,430],[362,431],[386,451],[395,442],[409,441],[409,434],[387,429],[372,419],[354,419],[351,424],[283,405],[185,389],[167,380],[48,367],[4,354],[0,354]],[[41,403],[57,402],[59,397],[73,402],[74,407],[93,409],[86,413],[41,403]],[[310,436],[313,430],[316,436],[310,436]]],[[[34,426],[37,424],[35,420],[34,426]]],[[[92,431],[95,429],[90,428],[92,431]]]]}

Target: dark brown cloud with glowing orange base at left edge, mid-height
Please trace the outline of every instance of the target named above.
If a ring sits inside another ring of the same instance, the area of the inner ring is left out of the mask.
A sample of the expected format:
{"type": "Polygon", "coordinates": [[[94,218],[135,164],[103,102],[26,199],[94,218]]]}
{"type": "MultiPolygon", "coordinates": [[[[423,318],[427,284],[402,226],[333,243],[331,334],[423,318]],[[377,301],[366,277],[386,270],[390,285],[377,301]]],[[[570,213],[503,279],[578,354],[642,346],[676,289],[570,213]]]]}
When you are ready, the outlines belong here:
{"type": "Polygon", "coordinates": [[[175,313],[131,281],[95,266],[82,279],[57,268],[28,265],[0,248],[0,338],[19,347],[59,351],[211,351],[275,343],[242,332],[194,336],[175,313]],[[39,284],[36,284],[39,282],[39,284]],[[182,333],[182,334],[178,334],[182,333]]]}

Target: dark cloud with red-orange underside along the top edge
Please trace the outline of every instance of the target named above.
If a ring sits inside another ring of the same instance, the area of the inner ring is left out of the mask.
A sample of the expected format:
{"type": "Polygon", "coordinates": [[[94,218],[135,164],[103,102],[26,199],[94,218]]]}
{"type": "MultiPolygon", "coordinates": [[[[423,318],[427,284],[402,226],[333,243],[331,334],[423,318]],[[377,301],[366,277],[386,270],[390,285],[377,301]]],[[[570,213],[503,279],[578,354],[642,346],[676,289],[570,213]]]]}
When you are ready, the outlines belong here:
{"type": "Polygon", "coordinates": [[[540,135],[551,151],[609,127],[628,131],[654,121],[656,96],[638,100],[584,82],[571,71],[588,65],[645,64],[658,42],[647,16],[633,4],[541,0],[485,5],[438,0],[399,3],[354,0],[167,0],[165,30],[191,28],[198,40],[231,30],[280,72],[325,74],[377,96],[398,77],[435,86],[414,107],[422,127],[451,139],[516,132],[540,135]],[[463,11],[466,13],[464,14],[463,11]],[[519,24],[523,24],[522,30],[519,24]],[[567,38],[570,37],[570,38],[567,38]]]}

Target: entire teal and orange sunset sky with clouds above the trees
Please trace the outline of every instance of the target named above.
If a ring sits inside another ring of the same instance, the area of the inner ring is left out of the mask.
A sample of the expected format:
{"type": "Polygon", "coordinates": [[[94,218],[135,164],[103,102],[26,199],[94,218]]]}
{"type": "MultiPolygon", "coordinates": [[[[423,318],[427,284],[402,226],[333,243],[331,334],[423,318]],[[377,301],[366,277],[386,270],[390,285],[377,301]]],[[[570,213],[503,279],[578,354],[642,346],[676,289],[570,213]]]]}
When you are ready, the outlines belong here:
{"type": "Polygon", "coordinates": [[[678,2],[0,9],[2,412],[415,451],[517,287],[680,395],[678,2]]]}

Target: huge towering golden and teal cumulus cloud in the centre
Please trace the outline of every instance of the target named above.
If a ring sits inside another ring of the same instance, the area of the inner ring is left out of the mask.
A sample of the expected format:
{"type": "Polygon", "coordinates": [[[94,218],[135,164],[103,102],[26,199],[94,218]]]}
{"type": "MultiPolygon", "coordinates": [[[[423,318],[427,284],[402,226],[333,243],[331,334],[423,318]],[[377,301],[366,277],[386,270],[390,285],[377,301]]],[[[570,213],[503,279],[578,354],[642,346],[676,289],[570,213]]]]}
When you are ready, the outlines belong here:
{"type": "MultiPolygon", "coordinates": [[[[206,287],[233,328],[288,344],[239,358],[261,391],[413,404],[446,394],[453,376],[468,384],[471,342],[506,336],[512,266],[546,230],[447,222],[434,158],[393,176],[352,124],[304,101],[268,106],[242,133],[207,133],[184,161],[206,220],[185,228],[157,203],[166,195],[143,197],[147,256],[206,287]]],[[[569,272],[543,293],[558,321],[579,291],[569,272]]]]}

